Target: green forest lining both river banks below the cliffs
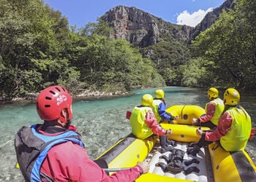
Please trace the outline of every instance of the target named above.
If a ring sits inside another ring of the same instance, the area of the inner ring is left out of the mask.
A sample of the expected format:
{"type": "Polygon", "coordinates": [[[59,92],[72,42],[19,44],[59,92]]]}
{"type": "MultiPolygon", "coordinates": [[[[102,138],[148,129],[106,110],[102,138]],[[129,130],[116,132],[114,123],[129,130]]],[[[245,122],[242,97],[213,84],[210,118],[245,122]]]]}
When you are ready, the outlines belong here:
{"type": "Polygon", "coordinates": [[[168,60],[159,65],[145,58],[142,48],[110,39],[113,29],[100,19],[76,28],[44,1],[0,0],[0,98],[23,97],[53,84],[72,94],[173,85],[255,90],[256,1],[235,2],[182,48],[189,51],[186,61],[173,61],[165,50],[176,45],[162,41],[152,47],[158,49],[154,57],[168,60]]]}

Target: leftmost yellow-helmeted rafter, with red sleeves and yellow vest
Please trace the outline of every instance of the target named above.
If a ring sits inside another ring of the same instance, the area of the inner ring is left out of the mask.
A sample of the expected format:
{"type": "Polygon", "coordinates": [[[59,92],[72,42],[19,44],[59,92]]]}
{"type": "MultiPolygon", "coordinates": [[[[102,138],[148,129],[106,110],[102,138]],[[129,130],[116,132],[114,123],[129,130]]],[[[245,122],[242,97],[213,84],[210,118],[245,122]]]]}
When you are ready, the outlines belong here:
{"type": "MultiPolygon", "coordinates": [[[[153,97],[150,94],[145,94],[141,98],[141,105],[135,106],[132,110],[132,114],[129,117],[129,121],[132,127],[132,134],[137,138],[145,139],[155,135],[165,136],[164,139],[167,142],[166,135],[171,135],[172,130],[165,130],[157,122],[154,112],[152,111],[153,97]]],[[[160,139],[161,140],[161,139],[160,139]]],[[[160,141],[161,142],[161,141],[160,141]]],[[[170,143],[173,144],[173,143],[170,143]]],[[[167,146],[163,146],[165,151],[169,150],[167,146]]]]}

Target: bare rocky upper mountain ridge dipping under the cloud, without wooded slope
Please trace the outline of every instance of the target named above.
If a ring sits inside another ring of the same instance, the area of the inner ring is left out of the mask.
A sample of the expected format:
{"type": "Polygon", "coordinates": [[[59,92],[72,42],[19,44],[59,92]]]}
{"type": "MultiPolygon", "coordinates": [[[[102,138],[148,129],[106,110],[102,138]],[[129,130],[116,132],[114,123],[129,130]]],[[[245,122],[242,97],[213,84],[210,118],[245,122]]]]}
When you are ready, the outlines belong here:
{"type": "Polygon", "coordinates": [[[181,41],[182,44],[188,44],[201,31],[210,27],[223,9],[230,8],[233,8],[233,0],[225,1],[220,7],[208,12],[195,28],[166,22],[136,7],[113,7],[101,19],[114,28],[113,39],[126,39],[134,46],[148,47],[159,41],[181,41]]]}

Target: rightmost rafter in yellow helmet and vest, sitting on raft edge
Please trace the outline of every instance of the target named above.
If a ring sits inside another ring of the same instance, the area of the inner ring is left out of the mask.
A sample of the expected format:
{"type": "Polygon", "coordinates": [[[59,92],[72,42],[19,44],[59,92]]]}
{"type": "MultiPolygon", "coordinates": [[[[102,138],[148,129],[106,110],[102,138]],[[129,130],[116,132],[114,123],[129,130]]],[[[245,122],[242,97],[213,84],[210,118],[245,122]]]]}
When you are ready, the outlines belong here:
{"type": "Polygon", "coordinates": [[[203,132],[197,129],[200,141],[187,149],[188,154],[196,155],[200,147],[217,142],[226,151],[242,151],[245,149],[252,130],[252,121],[244,108],[238,105],[239,92],[228,88],[224,93],[225,112],[220,116],[214,131],[203,132]]]}

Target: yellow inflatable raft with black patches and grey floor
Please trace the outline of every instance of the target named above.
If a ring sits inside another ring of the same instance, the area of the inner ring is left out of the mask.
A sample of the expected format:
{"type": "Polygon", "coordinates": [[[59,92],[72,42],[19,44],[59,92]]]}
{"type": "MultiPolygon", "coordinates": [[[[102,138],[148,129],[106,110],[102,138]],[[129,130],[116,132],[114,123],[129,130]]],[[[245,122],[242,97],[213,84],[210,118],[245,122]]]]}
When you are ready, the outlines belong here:
{"type": "MultiPolygon", "coordinates": [[[[109,174],[133,167],[137,162],[146,162],[150,170],[136,180],[139,182],[255,181],[256,167],[246,151],[228,152],[216,143],[211,143],[201,148],[196,156],[187,154],[187,147],[200,139],[196,134],[197,127],[191,124],[191,119],[204,114],[204,109],[200,106],[172,107],[167,108],[167,111],[173,116],[179,116],[179,123],[161,124],[165,129],[173,130],[168,138],[175,143],[172,150],[163,152],[157,135],[142,140],[130,134],[97,157],[95,162],[109,174]],[[177,161],[178,167],[175,164],[177,161]]],[[[202,129],[208,130],[207,127],[202,129]]]]}

